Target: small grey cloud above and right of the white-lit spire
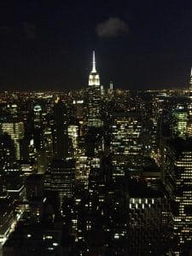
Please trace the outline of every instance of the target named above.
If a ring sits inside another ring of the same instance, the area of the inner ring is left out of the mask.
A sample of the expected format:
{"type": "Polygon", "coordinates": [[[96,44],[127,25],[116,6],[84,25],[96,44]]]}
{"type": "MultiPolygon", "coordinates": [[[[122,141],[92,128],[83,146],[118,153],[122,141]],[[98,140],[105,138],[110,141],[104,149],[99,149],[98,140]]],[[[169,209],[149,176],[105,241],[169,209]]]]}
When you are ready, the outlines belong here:
{"type": "Polygon", "coordinates": [[[118,17],[110,17],[96,26],[96,33],[100,38],[115,38],[128,32],[129,27],[118,17]]]}

